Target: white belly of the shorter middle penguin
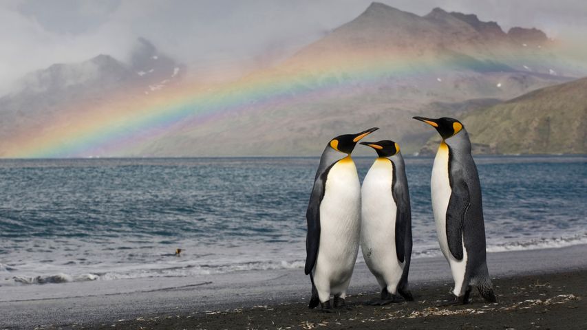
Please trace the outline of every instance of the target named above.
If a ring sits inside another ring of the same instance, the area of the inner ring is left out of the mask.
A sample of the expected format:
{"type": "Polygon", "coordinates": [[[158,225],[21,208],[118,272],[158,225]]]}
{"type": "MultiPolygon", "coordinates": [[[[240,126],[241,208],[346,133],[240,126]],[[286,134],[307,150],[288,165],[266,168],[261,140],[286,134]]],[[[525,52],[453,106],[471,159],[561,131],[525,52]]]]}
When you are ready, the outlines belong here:
{"type": "Polygon", "coordinates": [[[361,250],[381,288],[396,294],[405,262],[396,254],[397,206],[392,195],[393,166],[377,159],[361,188],[361,250]]]}

